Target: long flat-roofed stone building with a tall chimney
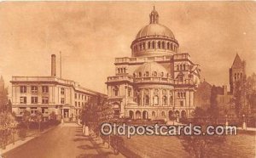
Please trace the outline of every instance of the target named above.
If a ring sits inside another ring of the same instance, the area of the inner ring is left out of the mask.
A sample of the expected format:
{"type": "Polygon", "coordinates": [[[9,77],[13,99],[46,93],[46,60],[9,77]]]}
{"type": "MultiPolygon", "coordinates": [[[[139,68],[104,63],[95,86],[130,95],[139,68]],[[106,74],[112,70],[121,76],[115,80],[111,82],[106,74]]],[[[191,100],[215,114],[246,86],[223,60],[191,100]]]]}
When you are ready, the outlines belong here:
{"type": "Polygon", "coordinates": [[[77,120],[87,105],[101,104],[106,95],[81,87],[56,76],[55,54],[51,56],[51,76],[13,76],[12,110],[22,116],[24,110],[31,114],[40,111],[44,120],[55,112],[59,119],[77,120]]]}

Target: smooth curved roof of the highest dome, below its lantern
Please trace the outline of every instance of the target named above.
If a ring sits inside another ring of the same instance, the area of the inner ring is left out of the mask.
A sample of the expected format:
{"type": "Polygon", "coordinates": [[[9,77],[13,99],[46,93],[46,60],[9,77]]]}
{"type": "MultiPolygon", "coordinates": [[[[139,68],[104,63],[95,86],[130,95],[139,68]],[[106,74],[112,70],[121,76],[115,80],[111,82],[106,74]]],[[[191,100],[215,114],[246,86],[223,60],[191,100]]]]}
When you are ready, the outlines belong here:
{"type": "Polygon", "coordinates": [[[172,31],[168,27],[157,23],[152,23],[144,26],[140,31],[138,31],[136,38],[148,36],[162,36],[175,38],[172,31]]]}

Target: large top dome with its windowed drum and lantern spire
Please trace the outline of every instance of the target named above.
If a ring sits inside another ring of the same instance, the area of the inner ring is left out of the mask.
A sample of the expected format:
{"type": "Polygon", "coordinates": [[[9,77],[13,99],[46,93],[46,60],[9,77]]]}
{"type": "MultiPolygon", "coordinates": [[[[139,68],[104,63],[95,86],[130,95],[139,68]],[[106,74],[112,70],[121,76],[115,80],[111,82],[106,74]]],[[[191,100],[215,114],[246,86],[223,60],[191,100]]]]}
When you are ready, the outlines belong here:
{"type": "Polygon", "coordinates": [[[132,57],[173,55],[178,51],[179,44],[172,31],[159,23],[159,14],[155,9],[149,14],[149,24],[145,25],[133,42],[132,57]]]}

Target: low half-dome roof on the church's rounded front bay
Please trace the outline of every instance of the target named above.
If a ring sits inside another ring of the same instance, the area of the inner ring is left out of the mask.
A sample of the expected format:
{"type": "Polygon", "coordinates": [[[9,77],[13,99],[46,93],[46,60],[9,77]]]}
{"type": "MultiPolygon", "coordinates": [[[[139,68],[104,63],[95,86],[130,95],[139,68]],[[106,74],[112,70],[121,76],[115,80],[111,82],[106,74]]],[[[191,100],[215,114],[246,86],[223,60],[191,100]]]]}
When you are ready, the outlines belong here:
{"type": "Polygon", "coordinates": [[[141,73],[142,76],[144,76],[146,73],[148,73],[148,76],[151,76],[154,72],[156,72],[159,76],[159,74],[167,74],[166,68],[156,62],[147,62],[143,65],[139,66],[134,73],[139,74],[141,73]]]}

